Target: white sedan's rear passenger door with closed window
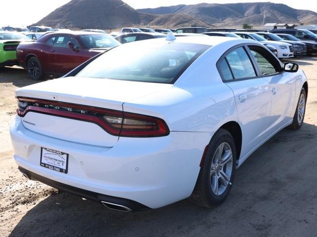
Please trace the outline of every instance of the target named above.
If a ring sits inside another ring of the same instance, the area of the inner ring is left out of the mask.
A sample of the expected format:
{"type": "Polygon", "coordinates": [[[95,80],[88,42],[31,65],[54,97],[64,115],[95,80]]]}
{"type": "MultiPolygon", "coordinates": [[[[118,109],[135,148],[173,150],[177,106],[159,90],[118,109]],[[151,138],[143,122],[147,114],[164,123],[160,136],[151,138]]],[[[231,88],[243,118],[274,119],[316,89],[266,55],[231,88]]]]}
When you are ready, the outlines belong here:
{"type": "Polygon", "coordinates": [[[244,157],[266,138],[271,107],[269,84],[258,77],[251,55],[243,45],[223,55],[217,67],[235,97],[243,137],[241,157],[244,157]]]}

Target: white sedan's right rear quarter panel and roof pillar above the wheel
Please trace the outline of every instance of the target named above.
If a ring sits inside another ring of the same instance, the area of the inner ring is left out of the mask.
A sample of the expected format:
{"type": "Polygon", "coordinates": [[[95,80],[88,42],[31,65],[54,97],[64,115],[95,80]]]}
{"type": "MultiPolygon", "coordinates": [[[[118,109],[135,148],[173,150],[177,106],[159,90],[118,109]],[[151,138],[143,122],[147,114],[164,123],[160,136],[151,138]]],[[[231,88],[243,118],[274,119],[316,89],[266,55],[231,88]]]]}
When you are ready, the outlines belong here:
{"type": "Polygon", "coordinates": [[[216,68],[218,59],[233,45],[228,41],[212,47],[172,87],[127,101],[123,110],[163,118],[170,131],[215,132],[228,121],[238,121],[233,92],[216,68]]]}

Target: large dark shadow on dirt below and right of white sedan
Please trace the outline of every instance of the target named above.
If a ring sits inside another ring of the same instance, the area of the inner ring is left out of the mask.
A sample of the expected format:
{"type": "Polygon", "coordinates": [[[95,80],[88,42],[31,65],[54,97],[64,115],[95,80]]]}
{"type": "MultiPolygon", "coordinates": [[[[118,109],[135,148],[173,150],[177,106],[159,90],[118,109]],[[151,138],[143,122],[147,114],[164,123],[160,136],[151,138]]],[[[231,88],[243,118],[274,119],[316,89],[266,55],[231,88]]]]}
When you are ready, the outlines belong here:
{"type": "Polygon", "coordinates": [[[314,236],[316,144],[315,125],[282,130],[237,170],[229,197],[212,209],[185,199],[156,210],[123,213],[55,193],[30,209],[9,237],[314,236]]]}

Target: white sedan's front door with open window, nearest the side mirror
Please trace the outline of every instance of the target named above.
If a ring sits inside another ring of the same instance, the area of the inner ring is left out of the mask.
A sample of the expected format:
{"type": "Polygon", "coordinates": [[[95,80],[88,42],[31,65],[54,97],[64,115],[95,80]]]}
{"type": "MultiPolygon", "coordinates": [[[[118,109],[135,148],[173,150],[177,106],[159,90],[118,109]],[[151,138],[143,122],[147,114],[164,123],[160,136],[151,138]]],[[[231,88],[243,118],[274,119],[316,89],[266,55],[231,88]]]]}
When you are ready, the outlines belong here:
{"type": "Polygon", "coordinates": [[[256,45],[248,45],[248,47],[271,91],[270,125],[267,129],[267,135],[270,136],[284,127],[294,116],[295,76],[284,72],[280,62],[264,47],[256,45]]]}

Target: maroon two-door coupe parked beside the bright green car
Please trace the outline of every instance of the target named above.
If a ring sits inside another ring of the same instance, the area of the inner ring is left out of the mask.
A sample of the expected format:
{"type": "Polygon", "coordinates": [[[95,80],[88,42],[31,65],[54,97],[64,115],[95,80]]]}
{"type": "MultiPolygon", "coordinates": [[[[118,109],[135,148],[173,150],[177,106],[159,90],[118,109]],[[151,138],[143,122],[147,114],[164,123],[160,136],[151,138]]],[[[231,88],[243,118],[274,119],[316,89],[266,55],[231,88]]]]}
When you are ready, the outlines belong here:
{"type": "Polygon", "coordinates": [[[31,78],[38,80],[45,75],[65,75],[88,59],[119,44],[106,34],[53,32],[35,42],[19,44],[16,55],[31,78]]]}

